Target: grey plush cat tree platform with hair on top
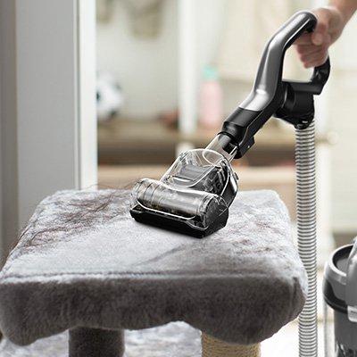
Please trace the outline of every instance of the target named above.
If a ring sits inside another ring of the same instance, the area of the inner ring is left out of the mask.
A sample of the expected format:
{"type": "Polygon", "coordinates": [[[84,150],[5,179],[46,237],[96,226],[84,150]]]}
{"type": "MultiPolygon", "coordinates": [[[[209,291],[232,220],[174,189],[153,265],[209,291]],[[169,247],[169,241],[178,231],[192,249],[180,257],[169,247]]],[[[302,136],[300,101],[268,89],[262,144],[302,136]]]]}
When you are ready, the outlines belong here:
{"type": "Polygon", "coordinates": [[[228,342],[260,342],[294,320],[307,282],[286,207],[242,192],[226,228],[195,239],[129,217],[128,191],[46,198],[0,274],[0,327],[27,345],[75,327],[186,321],[228,342]]]}

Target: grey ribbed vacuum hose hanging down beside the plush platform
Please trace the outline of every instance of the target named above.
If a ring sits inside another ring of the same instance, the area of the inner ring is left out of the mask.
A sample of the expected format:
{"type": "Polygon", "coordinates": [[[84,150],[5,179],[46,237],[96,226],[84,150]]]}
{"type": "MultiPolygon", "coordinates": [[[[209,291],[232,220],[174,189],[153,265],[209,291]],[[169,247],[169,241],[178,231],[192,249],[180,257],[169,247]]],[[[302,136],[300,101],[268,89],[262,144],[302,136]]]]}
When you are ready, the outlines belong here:
{"type": "Polygon", "coordinates": [[[299,316],[299,356],[318,355],[315,126],[296,129],[296,206],[298,250],[307,272],[309,291],[299,316]]]}

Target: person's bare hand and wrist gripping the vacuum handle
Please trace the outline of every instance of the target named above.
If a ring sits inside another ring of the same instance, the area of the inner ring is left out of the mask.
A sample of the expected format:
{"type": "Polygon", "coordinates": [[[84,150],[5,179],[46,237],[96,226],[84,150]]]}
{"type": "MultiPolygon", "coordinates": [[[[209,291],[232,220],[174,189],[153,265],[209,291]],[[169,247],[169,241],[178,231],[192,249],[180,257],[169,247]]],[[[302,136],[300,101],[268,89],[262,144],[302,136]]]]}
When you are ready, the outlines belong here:
{"type": "Polygon", "coordinates": [[[315,31],[295,42],[305,68],[320,66],[326,61],[328,47],[340,37],[356,10],[357,0],[330,0],[328,6],[313,11],[318,18],[315,31]]]}

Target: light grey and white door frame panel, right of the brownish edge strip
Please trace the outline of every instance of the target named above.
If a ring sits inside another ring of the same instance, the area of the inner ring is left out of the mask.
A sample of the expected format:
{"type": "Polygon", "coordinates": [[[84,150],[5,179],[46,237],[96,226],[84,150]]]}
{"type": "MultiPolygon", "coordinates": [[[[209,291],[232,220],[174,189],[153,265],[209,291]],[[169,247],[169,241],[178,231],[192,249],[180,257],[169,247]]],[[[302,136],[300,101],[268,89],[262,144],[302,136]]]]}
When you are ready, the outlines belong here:
{"type": "Polygon", "coordinates": [[[93,0],[16,1],[20,224],[46,195],[96,183],[94,26],[93,0]]]}

